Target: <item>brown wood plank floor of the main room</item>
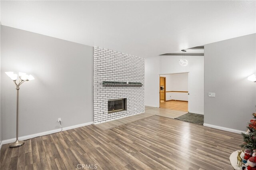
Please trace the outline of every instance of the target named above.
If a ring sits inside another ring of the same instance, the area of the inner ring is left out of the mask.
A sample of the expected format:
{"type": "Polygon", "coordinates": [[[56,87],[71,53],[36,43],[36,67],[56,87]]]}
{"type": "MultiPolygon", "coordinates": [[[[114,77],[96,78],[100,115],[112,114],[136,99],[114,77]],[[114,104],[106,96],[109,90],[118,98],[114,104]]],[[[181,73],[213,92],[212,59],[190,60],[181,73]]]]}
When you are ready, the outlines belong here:
{"type": "Polygon", "coordinates": [[[152,116],[106,131],[89,125],[32,138],[18,148],[5,144],[0,168],[232,170],[229,156],[241,143],[240,134],[152,116]]]}

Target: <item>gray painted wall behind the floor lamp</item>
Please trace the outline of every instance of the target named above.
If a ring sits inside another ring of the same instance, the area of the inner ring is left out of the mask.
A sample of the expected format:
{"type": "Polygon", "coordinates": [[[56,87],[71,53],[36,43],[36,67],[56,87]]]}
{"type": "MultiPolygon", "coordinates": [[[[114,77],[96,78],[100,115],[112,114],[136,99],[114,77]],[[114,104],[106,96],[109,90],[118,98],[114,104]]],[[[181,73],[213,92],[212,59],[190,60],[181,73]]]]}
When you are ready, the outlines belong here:
{"type": "MultiPolygon", "coordinates": [[[[61,31],[61,30],[60,30],[61,31]]],[[[16,90],[5,71],[35,80],[20,87],[19,136],[93,121],[93,47],[2,26],[1,139],[16,136],[16,90]]]]}

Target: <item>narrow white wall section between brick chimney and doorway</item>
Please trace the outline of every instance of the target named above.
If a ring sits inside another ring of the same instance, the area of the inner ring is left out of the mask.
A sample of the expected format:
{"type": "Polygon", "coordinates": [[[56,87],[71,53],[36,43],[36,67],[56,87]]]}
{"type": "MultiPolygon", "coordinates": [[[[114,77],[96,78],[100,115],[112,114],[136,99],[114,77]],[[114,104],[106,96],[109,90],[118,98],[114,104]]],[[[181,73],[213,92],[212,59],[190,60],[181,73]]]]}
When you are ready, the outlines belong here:
{"type": "Polygon", "coordinates": [[[159,107],[159,68],[160,59],[148,57],[145,59],[145,105],[159,107]]]}

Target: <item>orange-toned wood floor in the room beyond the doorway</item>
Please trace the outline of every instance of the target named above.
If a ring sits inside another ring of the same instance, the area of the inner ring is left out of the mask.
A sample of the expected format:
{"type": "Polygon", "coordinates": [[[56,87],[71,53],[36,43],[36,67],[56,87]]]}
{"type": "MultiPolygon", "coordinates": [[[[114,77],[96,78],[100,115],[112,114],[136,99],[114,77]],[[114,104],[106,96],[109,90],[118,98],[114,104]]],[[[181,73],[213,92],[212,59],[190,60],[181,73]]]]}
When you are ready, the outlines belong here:
{"type": "Polygon", "coordinates": [[[164,109],[172,109],[177,111],[188,112],[188,102],[187,101],[161,101],[160,107],[164,109]]]}

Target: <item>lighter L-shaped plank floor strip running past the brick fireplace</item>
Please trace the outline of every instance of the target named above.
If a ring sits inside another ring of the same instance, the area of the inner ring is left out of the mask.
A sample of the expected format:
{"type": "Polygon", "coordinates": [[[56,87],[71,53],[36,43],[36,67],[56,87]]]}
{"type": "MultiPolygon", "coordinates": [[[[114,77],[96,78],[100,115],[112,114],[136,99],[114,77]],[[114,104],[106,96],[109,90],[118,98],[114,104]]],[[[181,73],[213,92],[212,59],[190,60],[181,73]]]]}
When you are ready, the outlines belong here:
{"type": "Polygon", "coordinates": [[[124,118],[121,118],[121,119],[116,119],[116,120],[108,121],[108,122],[105,122],[105,123],[94,124],[94,126],[97,127],[97,128],[100,128],[100,130],[108,130],[108,129],[111,129],[111,128],[114,128],[114,127],[125,125],[127,123],[132,123],[134,121],[138,121],[140,119],[145,119],[147,117],[151,117],[151,116],[154,116],[154,115],[174,119],[174,118],[180,117],[180,116],[182,116],[186,113],[187,112],[183,112],[183,111],[174,111],[174,110],[170,110],[170,109],[163,109],[163,108],[145,106],[145,113],[141,113],[141,114],[133,115],[133,116],[129,116],[129,117],[124,117],[124,118]],[[152,109],[152,110],[149,110],[149,109],[152,109]]]}

